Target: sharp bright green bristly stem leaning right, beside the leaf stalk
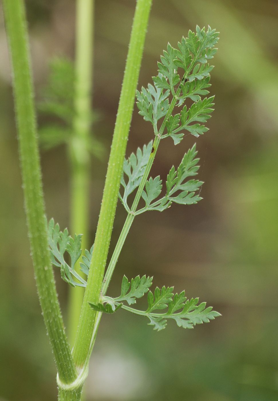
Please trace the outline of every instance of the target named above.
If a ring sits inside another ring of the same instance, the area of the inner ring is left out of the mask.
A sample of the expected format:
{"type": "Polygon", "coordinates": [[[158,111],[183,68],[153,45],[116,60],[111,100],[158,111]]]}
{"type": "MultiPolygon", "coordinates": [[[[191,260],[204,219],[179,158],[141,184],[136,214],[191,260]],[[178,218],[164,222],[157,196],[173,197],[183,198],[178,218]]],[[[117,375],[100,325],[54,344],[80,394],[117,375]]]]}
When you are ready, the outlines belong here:
{"type": "Polygon", "coordinates": [[[91,309],[88,301],[98,302],[100,296],[115,218],[121,172],[131,124],[135,90],[138,83],[150,8],[151,0],[137,0],[129,51],[127,54],[127,63],[121,89],[121,97],[108,162],[103,200],[95,237],[95,247],[85,290],[77,337],[73,348],[73,358],[78,367],[82,367],[85,363],[90,348],[93,328],[95,326],[96,312],[91,309]]]}

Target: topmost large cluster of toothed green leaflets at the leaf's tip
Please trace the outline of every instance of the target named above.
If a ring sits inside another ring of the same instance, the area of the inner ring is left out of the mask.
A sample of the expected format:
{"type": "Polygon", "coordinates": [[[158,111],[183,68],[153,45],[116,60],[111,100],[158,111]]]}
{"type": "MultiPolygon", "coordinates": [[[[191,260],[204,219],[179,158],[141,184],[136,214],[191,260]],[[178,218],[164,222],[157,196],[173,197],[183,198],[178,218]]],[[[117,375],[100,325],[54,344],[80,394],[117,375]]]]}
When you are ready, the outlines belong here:
{"type": "MultiPolygon", "coordinates": [[[[153,124],[155,136],[158,136],[159,139],[171,136],[174,144],[177,145],[183,138],[184,134],[179,133],[183,129],[194,136],[199,136],[208,130],[201,124],[189,124],[194,121],[206,122],[210,118],[209,114],[213,111],[210,107],[207,107],[207,110],[201,109],[201,96],[209,93],[206,88],[210,87],[210,72],[214,67],[207,64],[207,60],[212,59],[216,54],[217,49],[214,49],[214,46],[218,42],[218,33],[210,26],[207,31],[205,28],[200,29],[199,26],[196,26],[196,34],[189,30],[188,38],[181,39],[178,49],[174,49],[168,43],[167,51],[163,51],[163,56],[161,56],[161,63],[157,63],[159,74],[157,77],[153,77],[154,86],[149,84],[147,90],[142,87],[141,93],[137,91],[139,114],[153,124]],[[184,70],[182,77],[178,74],[178,67],[184,70]],[[179,86],[177,87],[177,85],[179,86]],[[163,89],[166,89],[164,94],[163,89]],[[180,115],[168,116],[166,113],[169,110],[167,97],[169,97],[170,91],[173,95],[172,102],[178,102],[179,106],[188,97],[197,103],[193,103],[188,111],[185,106],[180,115]],[[182,95],[180,95],[181,93],[182,95]],[[167,128],[167,134],[163,134],[163,128],[161,131],[157,130],[157,120],[164,115],[166,117],[161,127],[167,128]],[[179,121],[182,123],[181,126],[179,126],[179,121]]],[[[204,101],[206,103],[206,100],[211,99],[204,99],[204,101]]],[[[210,103],[213,105],[212,102],[210,103]]]]}

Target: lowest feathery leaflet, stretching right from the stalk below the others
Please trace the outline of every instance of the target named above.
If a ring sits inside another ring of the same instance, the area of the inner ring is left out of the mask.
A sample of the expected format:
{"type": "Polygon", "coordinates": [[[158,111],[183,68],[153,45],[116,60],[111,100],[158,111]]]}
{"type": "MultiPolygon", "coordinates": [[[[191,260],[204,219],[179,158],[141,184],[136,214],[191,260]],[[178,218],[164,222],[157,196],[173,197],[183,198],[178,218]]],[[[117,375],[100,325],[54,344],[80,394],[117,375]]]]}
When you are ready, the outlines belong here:
{"type": "Polygon", "coordinates": [[[146,316],[150,320],[149,325],[154,326],[153,330],[157,331],[163,330],[166,327],[167,319],[175,320],[179,327],[193,328],[195,324],[206,323],[217,316],[221,316],[220,313],[212,310],[211,306],[205,308],[205,302],[198,305],[198,298],[192,298],[190,301],[187,300],[184,291],[174,295],[173,287],[168,287],[166,289],[165,286],[163,286],[161,290],[156,288],[153,294],[149,291],[149,287],[152,284],[151,282],[152,277],[146,278],[146,276],[143,276],[140,279],[140,277],[137,276],[134,280],[131,279],[130,285],[127,277],[124,276],[121,286],[121,295],[118,298],[101,296],[101,302],[97,305],[89,302],[89,305],[97,312],[113,313],[117,309],[122,308],[129,312],[146,316]],[[135,298],[141,298],[148,291],[148,308],[146,311],[137,310],[123,304],[124,301],[129,305],[135,304],[135,298]],[[165,313],[156,313],[156,311],[166,308],[167,310],[165,313]]]}

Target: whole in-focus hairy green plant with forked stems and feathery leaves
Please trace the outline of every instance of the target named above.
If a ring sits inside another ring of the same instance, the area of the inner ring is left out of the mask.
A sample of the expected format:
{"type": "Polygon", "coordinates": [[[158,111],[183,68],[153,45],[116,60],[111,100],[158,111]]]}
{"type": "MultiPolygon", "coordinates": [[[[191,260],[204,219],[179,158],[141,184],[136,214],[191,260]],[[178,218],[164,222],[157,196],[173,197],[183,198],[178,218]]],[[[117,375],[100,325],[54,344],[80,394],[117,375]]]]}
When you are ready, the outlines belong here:
{"type": "MultiPolygon", "coordinates": [[[[175,320],[183,328],[193,328],[195,324],[209,322],[219,316],[211,307],[205,308],[205,302],[198,304],[197,298],[187,300],[184,291],[174,294],[173,287],[156,288],[151,292],[149,288],[152,278],[146,276],[137,276],[130,282],[124,276],[120,295],[117,298],[106,295],[135,216],[145,211],[163,211],[173,202],[190,205],[201,199],[197,191],[202,182],[192,178],[199,168],[195,145],[185,153],[177,169],[173,166],[169,171],[166,193],[163,196],[160,177],[151,178],[149,173],[161,140],[170,136],[177,145],[185,131],[196,137],[207,131],[204,123],[210,118],[214,103],[213,97],[203,96],[208,94],[207,88],[210,87],[210,72],[213,67],[207,61],[216,53],[214,46],[218,41],[218,32],[210,27],[206,31],[197,26],[196,34],[189,31],[188,38],[183,37],[181,43],[178,43],[178,49],[168,44],[167,51],[163,52],[161,62],[158,63],[158,75],[153,77],[153,85],[149,84],[147,89],[142,88],[141,92],[136,91],[150,7],[151,0],[137,0],[99,222],[95,242],[82,256],[82,276],[77,269],[82,253],[81,234],[71,237],[67,229],[60,231],[59,225],[53,219],[48,224],[46,221],[24,4],[22,0],[3,0],[13,68],[27,224],[38,295],[58,371],[59,400],[80,399],[103,313],[114,313],[122,308],[147,317],[149,324],[156,330],[164,329],[167,320],[175,320]],[[125,159],[135,94],[139,114],[153,126],[154,140],[142,150],[138,148],[136,155],[131,154],[125,159]],[[187,99],[190,99],[190,107],[185,104],[187,99]],[[175,106],[183,107],[174,114],[175,106]],[[134,191],[135,198],[130,203],[129,195],[134,191]],[[127,211],[127,219],[105,272],[118,198],[127,211]],[[141,198],[145,201],[145,206],[138,209],[141,198]],[[70,262],[68,257],[64,257],[65,253],[68,253],[70,262]],[[74,290],[76,287],[85,288],[72,351],[64,330],[52,265],[60,268],[62,279],[74,290]],[[131,307],[136,303],[136,298],[141,298],[145,293],[146,310],[131,307]]],[[[76,85],[78,86],[78,80],[76,85]]],[[[86,96],[88,106],[89,97],[86,96]]],[[[75,101],[78,103],[77,99],[78,97],[75,101]]],[[[83,121],[83,127],[86,125],[86,118],[87,126],[90,124],[89,108],[82,108],[86,103],[84,99],[85,97],[82,100],[82,96],[79,98],[80,109],[75,104],[75,117],[70,122],[75,132],[70,137],[71,152],[76,154],[81,151],[81,156],[88,148],[87,145],[83,148],[79,146],[86,144],[87,140],[84,140],[87,134],[82,131],[80,121],[83,121]],[[80,115],[84,112],[83,119],[79,119],[78,110],[80,115]]]]}

